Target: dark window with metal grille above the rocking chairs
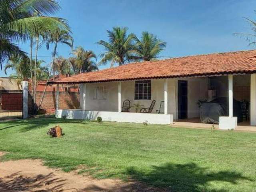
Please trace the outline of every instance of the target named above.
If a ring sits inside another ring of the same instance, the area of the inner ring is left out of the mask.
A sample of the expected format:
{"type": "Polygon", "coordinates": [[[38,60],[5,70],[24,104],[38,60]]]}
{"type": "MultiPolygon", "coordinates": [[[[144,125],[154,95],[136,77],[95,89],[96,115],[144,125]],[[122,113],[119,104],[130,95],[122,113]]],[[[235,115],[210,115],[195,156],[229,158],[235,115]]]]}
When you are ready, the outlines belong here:
{"type": "Polygon", "coordinates": [[[151,80],[135,81],[135,100],[151,100],[151,80]]]}

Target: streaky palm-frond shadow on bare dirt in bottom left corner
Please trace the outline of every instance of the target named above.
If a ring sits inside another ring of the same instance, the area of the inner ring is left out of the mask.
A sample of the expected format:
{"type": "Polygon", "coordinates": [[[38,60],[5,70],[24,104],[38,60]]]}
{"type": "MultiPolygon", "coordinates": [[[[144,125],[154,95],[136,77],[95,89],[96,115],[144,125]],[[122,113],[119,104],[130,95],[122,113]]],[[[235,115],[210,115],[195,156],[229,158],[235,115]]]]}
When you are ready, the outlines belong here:
{"type": "Polygon", "coordinates": [[[0,191],[61,192],[65,180],[54,177],[53,173],[37,176],[22,176],[20,172],[0,178],[0,191]]]}

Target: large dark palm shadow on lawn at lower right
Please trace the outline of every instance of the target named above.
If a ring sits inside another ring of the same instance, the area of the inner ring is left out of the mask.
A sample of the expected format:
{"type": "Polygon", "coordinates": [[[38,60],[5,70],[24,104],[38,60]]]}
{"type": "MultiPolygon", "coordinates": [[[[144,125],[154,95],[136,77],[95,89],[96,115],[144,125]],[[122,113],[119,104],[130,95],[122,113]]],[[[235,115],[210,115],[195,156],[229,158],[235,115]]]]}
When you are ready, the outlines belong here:
{"type": "Polygon", "coordinates": [[[227,192],[228,190],[226,189],[211,188],[209,182],[220,181],[222,184],[223,182],[228,182],[236,185],[237,180],[253,181],[235,171],[212,172],[208,168],[200,167],[194,163],[168,163],[163,166],[152,166],[150,172],[143,172],[134,167],[129,167],[124,174],[149,186],[175,192],[227,192]]]}

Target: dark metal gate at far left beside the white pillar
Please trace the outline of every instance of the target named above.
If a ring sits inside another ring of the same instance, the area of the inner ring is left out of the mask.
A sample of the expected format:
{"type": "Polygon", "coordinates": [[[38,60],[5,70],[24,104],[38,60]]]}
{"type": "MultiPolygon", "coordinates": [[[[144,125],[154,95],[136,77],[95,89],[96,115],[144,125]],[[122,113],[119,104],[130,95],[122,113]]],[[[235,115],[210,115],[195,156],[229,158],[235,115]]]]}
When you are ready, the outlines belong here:
{"type": "Polygon", "coordinates": [[[0,90],[0,120],[22,118],[22,90],[0,90]]]}

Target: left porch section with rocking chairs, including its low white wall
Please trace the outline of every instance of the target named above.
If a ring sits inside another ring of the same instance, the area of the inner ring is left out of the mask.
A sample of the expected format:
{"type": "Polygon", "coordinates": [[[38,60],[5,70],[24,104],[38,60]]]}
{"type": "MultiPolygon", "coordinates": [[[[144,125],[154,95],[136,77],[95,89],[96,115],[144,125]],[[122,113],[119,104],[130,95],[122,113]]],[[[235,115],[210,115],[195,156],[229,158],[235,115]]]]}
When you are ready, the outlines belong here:
{"type": "Polygon", "coordinates": [[[56,118],[96,120],[97,117],[101,117],[104,121],[149,124],[172,124],[174,119],[173,114],[168,113],[167,107],[168,79],[150,80],[150,85],[143,80],[80,84],[80,109],[58,108],[58,86],[57,84],[56,118]],[[142,87],[147,84],[147,92],[145,88],[136,90],[139,89],[136,88],[136,82],[142,87]],[[159,92],[151,92],[152,89],[159,92]],[[139,93],[141,91],[144,92],[142,98],[139,93]],[[129,101],[129,106],[124,110],[125,100],[129,101]],[[156,110],[159,112],[156,113],[156,110]]]}

